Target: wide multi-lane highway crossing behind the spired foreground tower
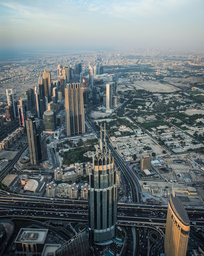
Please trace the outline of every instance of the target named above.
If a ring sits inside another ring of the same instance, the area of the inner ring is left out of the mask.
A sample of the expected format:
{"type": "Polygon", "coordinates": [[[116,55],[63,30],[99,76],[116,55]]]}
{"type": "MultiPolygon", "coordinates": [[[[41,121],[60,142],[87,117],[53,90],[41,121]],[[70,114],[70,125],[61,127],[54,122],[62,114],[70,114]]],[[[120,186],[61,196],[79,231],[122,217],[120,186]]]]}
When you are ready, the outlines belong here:
{"type": "MultiPolygon", "coordinates": [[[[191,225],[204,227],[204,209],[186,209],[191,225]]],[[[42,218],[88,221],[88,202],[40,197],[11,197],[2,193],[1,218],[42,218]]],[[[118,203],[118,224],[165,227],[167,207],[134,203],[118,203]]]]}

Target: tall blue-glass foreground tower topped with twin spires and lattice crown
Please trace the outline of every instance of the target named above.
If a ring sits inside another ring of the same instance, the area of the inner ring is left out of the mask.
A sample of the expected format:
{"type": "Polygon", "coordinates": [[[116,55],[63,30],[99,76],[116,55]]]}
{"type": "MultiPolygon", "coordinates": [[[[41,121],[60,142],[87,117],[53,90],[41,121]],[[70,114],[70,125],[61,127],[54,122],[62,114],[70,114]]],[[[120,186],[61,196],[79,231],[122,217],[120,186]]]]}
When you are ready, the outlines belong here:
{"type": "Polygon", "coordinates": [[[105,245],[117,235],[117,190],[114,158],[102,141],[93,157],[93,168],[89,174],[89,238],[90,244],[105,245]]]}

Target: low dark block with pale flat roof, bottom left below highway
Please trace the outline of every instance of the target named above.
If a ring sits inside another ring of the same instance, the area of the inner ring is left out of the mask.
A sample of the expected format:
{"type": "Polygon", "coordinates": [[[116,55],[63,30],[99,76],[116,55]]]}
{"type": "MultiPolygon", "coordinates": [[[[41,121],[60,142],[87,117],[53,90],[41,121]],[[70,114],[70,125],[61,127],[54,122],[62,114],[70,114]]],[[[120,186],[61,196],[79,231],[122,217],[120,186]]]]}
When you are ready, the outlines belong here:
{"type": "Polygon", "coordinates": [[[15,238],[15,255],[42,255],[44,245],[48,243],[48,229],[21,228],[15,238]]]}

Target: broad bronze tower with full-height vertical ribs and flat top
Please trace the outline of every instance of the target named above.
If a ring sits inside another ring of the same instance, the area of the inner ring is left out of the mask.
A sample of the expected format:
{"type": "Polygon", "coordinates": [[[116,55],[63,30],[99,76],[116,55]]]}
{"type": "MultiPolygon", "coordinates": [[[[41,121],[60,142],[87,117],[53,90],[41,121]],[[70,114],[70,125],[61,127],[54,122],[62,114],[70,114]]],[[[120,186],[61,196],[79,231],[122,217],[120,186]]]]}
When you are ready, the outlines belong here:
{"type": "Polygon", "coordinates": [[[66,136],[85,133],[83,92],[80,83],[68,83],[65,89],[66,136]]]}

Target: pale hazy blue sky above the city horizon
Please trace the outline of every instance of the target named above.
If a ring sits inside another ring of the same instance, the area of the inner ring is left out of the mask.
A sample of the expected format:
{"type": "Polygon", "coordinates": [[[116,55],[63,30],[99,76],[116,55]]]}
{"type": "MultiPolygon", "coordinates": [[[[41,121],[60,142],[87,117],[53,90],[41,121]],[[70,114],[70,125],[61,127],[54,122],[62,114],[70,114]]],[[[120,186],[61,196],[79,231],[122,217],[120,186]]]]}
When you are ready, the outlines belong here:
{"type": "Polygon", "coordinates": [[[0,0],[0,49],[204,49],[204,0],[0,0]]]}

